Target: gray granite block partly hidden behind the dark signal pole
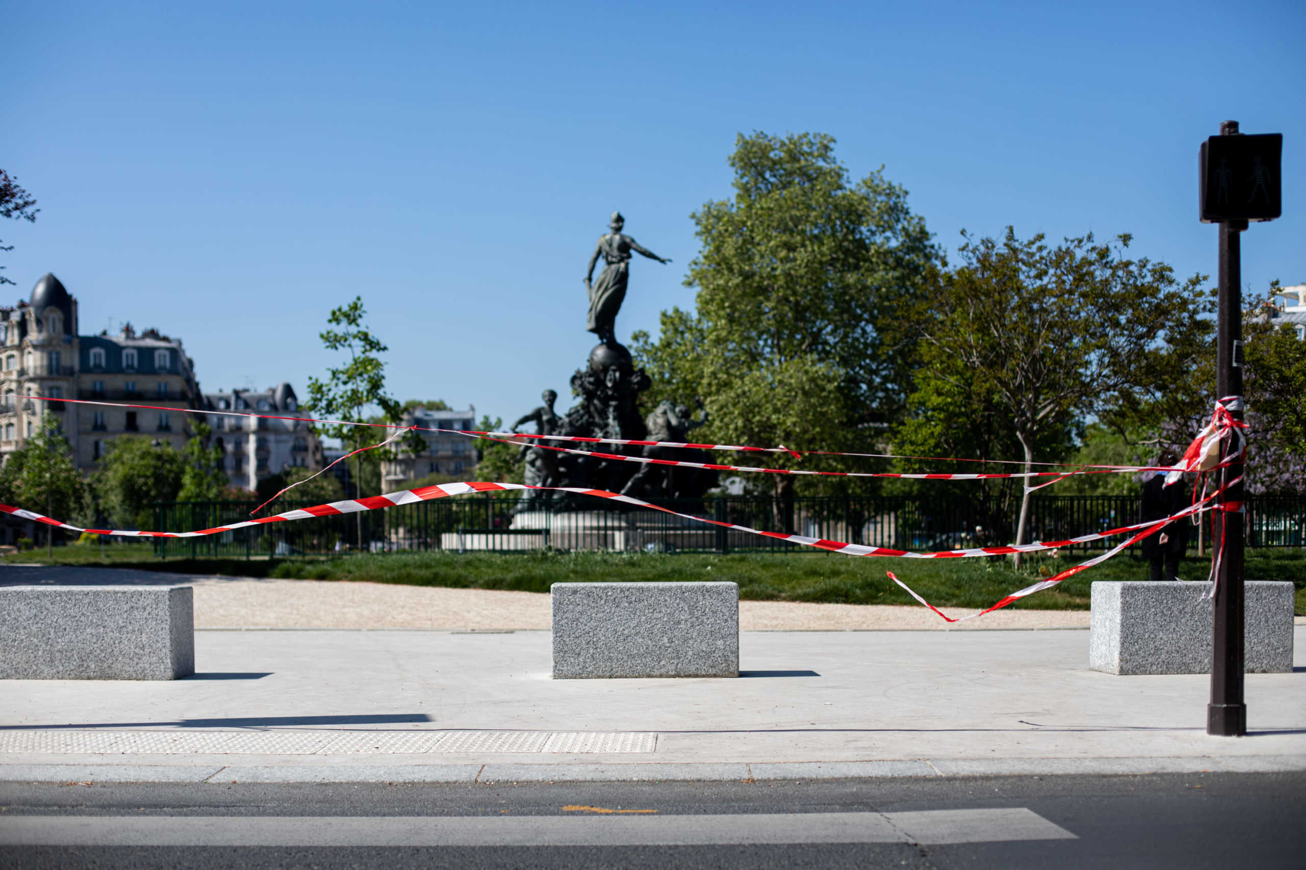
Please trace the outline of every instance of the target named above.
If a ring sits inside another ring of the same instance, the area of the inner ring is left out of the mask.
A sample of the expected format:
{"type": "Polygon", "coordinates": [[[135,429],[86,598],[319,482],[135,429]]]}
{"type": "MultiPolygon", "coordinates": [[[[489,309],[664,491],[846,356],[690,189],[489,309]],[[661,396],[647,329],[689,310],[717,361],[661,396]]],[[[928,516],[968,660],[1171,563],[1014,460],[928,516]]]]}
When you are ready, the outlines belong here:
{"type": "MultiPolygon", "coordinates": [[[[1117,674],[1211,673],[1205,583],[1093,583],[1088,667],[1117,674]]],[[[1293,584],[1246,580],[1247,673],[1293,669],[1293,584]]]]}

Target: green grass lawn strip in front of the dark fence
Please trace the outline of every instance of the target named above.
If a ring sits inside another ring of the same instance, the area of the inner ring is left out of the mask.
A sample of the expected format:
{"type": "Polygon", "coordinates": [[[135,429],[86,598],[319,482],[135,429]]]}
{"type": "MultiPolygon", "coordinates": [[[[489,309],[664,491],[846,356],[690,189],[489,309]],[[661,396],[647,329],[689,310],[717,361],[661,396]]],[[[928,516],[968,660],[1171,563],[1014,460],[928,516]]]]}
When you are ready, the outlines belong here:
{"type": "MultiPolygon", "coordinates": [[[[1041,577],[1087,558],[1030,557],[1021,571],[1010,560],[852,558],[833,553],[645,554],[645,553],[384,553],[341,558],[185,560],[159,561],[148,544],[115,544],[103,554],[97,545],[55,548],[57,565],[106,565],[145,570],[235,577],[276,577],[316,580],[367,580],[409,586],[547,592],[558,582],[594,580],[733,580],[739,597],[761,601],[824,601],[838,604],[914,604],[885,577],[892,570],[904,583],[939,607],[987,607],[1041,577]]],[[[0,562],[46,562],[46,552],[7,556],[0,562]]],[[[1181,567],[1186,580],[1205,579],[1209,558],[1190,557],[1181,567]]],[[[1247,550],[1247,579],[1293,580],[1297,613],[1306,616],[1306,550],[1247,550]]],[[[1015,604],[1041,610],[1088,608],[1093,580],[1140,580],[1147,563],[1127,554],[1089,569],[1060,586],[1015,604]]]]}

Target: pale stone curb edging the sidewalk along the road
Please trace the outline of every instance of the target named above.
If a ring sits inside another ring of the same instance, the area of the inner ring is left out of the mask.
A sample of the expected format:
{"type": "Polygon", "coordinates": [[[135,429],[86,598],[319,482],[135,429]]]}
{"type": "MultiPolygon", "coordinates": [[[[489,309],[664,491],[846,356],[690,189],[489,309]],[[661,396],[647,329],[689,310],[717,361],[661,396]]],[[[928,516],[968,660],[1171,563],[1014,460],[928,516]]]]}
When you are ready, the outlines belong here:
{"type": "Polygon", "coordinates": [[[0,783],[657,783],[1306,772],[1306,755],[628,764],[0,764],[0,783]]]}

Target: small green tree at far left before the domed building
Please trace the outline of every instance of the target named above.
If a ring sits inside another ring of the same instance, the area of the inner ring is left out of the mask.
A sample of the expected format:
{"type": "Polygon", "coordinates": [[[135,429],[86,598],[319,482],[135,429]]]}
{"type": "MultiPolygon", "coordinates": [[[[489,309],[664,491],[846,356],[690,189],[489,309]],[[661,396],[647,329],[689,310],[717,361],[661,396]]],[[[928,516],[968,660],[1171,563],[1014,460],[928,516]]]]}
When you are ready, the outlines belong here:
{"type": "MultiPolygon", "coordinates": [[[[72,447],[57,429],[42,429],[9,454],[0,470],[0,497],[64,522],[76,522],[86,507],[86,483],[72,460],[72,447]]],[[[54,527],[46,547],[54,554],[54,527]]]]}

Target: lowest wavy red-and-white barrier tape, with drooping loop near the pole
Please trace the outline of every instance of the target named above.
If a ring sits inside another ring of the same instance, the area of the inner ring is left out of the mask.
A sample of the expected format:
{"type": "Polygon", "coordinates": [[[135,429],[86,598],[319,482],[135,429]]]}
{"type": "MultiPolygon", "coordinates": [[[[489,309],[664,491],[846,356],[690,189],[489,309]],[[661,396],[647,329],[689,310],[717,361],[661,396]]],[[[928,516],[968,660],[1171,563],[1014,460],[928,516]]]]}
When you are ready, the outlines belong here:
{"type": "MultiPolygon", "coordinates": [[[[1237,481],[1233,481],[1233,483],[1237,483],[1237,481]]],[[[742,532],[748,532],[751,535],[760,535],[763,537],[771,537],[771,539],[780,540],[780,541],[786,541],[786,543],[790,543],[790,544],[801,544],[803,547],[814,547],[814,548],[818,548],[818,549],[828,550],[831,553],[842,553],[845,556],[874,556],[874,557],[900,557],[900,558],[965,558],[965,557],[977,557],[977,556],[1006,556],[1006,554],[1011,554],[1011,553],[1036,553],[1036,552],[1040,552],[1040,550],[1057,549],[1057,548],[1060,548],[1060,547],[1072,547],[1075,544],[1085,544],[1085,543],[1089,543],[1089,541],[1102,540],[1105,537],[1113,537],[1115,535],[1122,535],[1124,532],[1138,532],[1136,535],[1134,535],[1124,544],[1121,544],[1121,545],[1118,545],[1118,547],[1107,550],[1106,553],[1104,553],[1101,556],[1097,556],[1097,557],[1094,557],[1094,558],[1092,558],[1092,560],[1089,560],[1089,561],[1087,561],[1087,562],[1084,562],[1081,565],[1077,565],[1077,566],[1075,566],[1072,569],[1062,571],[1060,574],[1058,574],[1054,578],[1050,578],[1047,580],[1042,580],[1041,583],[1036,583],[1034,586],[1030,586],[1030,587],[1028,587],[1025,590],[1020,590],[1017,592],[1013,592],[1013,593],[1008,595],[1006,599],[1003,599],[1002,601],[999,601],[998,604],[995,604],[991,608],[989,608],[987,610],[983,610],[982,613],[989,613],[989,612],[995,610],[998,608],[1006,607],[1007,604],[1011,604],[1012,601],[1015,601],[1017,599],[1021,599],[1021,597],[1024,597],[1027,595],[1032,595],[1034,592],[1038,592],[1040,590],[1045,590],[1045,588],[1049,588],[1050,586],[1055,586],[1057,583],[1062,582],[1063,579],[1066,579],[1068,577],[1072,577],[1072,575],[1077,574],[1079,571],[1083,571],[1083,570],[1085,570],[1088,567],[1092,567],[1093,565],[1097,565],[1097,563],[1100,563],[1100,562],[1110,558],[1111,556],[1114,556],[1119,550],[1124,549],[1130,544],[1132,544],[1135,541],[1139,541],[1143,537],[1147,537],[1148,535],[1158,531],[1166,523],[1170,523],[1170,522],[1174,522],[1177,519],[1182,519],[1185,517],[1190,517],[1192,514],[1196,514],[1196,513],[1200,513],[1203,510],[1207,510],[1208,509],[1207,502],[1209,502],[1211,500],[1218,497],[1225,490],[1225,488],[1221,488],[1217,492],[1215,492],[1211,496],[1208,496],[1207,498],[1202,500],[1200,502],[1194,503],[1192,506],[1186,507],[1185,510],[1174,514],[1173,517],[1166,517],[1165,519],[1161,519],[1161,520],[1155,520],[1155,522],[1149,520],[1147,523],[1134,523],[1131,526],[1121,526],[1119,528],[1113,528],[1113,530],[1109,530],[1109,531],[1105,531],[1105,532],[1096,532],[1096,533],[1092,533],[1092,535],[1081,535],[1079,537],[1072,537],[1072,539],[1060,540],[1060,541],[1036,541],[1033,544],[1007,544],[1007,545],[1003,545],[1003,547],[976,547],[976,548],[969,548],[969,549],[940,550],[940,552],[934,552],[934,553],[916,553],[916,552],[912,552],[912,550],[900,550],[900,549],[892,549],[892,548],[887,548],[887,547],[867,547],[865,544],[848,544],[848,543],[844,543],[844,541],[833,541],[833,540],[827,540],[827,539],[821,539],[821,537],[811,537],[811,536],[807,536],[807,535],[790,535],[790,533],[784,533],[784,532],[767,532],[767,531],[751,528],[748,526],[739,526],[737,523],[727,523],[727,522],[722,522],[722,520],[718,520],[718,519],[707,519],[704,517],[695,517],[693,514],[682,514],[680,511],[670,510],[667,507],[660,507],[658,505],[653,505],[650,502],[641,501],[639,498],[632,498],[629,496],[620,496],[618,493],[606,492],[603,489],[584,489],[584,488],[580,488],[580,487],[528,487],[525,484],[488,483],[488,481],[469,481],[469,483],[456,483],[456,484],[439,484],[439,485],[434,485],[434,487],[421,487],[418,489],[404,489],[404,490],[394,492],[394,493],[388,493],[388,494],[384,494],[384,496],[372,496],[370,498],[357,498],[357,500],[355,498],[349,498],[349,500],[343,500],[343,501],[330,502],[330,503],[326,503],[326,505],[316,505],[313,507],[303,507],[303,509],[287,510],[287,511],[283,511],[281,514],[276,514],[273,517],[263,517],[263,518],[259,518],[259,519],[248,519],[248,520],[242,520],[239,523],[230,523],[227,526],[215,526],[213,528],[204,528],[204,530],[192,531],[192,532],[151,532],[151,531],[119,531],[119,530],[103,530],[103,528],[82,528],[81,526],[73,526],[72,523],[65,523],[65,522],[61,522],[61,520],[57,520],[57,519],[52,519],[50,517],[44,517],[44,515],[38,514],[35,511],[24,510],[21,507],[13,507],[10,505],[0,505],[0,513],[12,514],[14,517],[20,517],[22,519],[29,519],[29,520],[38,522],[38,523],[46,523],[47,526],[55,526],[56,528],[64,528],[64,530],[73,531],[73,532],[90,532],[93,535],[119,535],[119,536],[125,536],[125,537],[204,537],[204,536],[208,536],[208,535],[217,535],[217,533],[221,533],[221,532],[235,531],[238,528],[248,528],[251,526],[265,526],[265,524],[269,524],[269,523],[283,523],[283,522],[291,522],[291,520],[298,520],[298,519],[312,519],[315,517],[334,517],[334,515],[340,515],[340,514],[354,514],[354,513],[359,513],[359,511],[364,511],[364,510],[376,510],[379,507],[396,507],[396,506],[400,506],[400,505],[411,505],[411,503],[417,503],[417,502],[432,501],[435,498],[445,498],[445,497],[449,497],[449,496],[461,496],[461,494],[466,494],[466,493],[477,493],[477,492],[508,492],[508,490],[525,490],[525,489],[547,489],[547,490],[554,490],[554,492],[569,492],[569,493],[576,493],[576,494],[581,494],[581,496],[594,496],[594,497],[598,497],[598,498],[609,498],[611,501],[619,501],[619,502],[623,502],[626,505],[633,505],[636,507],[644,507],[644,509],[648,509],[648,510],[657,510],[657,511],[661,511],[663,514],[671,514],[673,517],[682,517],[684,519],[692,519],[695,522],[707,523],[707,524],[710,524],[710,526],[720,526],[720,527],[724,527],[724,528],[731,528],[731,530],[737,530],[737,531],[742,531],[742,532]],[[1141,530],[1141,531],[1139,531],[1139,530],[1141,530]]],[[[902,588],[905,588],[908,592],[912,593],[913,597],[916,597],[918,601],[921,601],[922,604],[925,604],[926,607],[929,607],[931,610],[934,610],[935,613],[938,613],[939,616],[942,616],[944,620],[948,620],[951,622],[956,621],[956,620],[952,620],[951,617],[944,616],[938,608],[935,608],[929,601],[926,601],[919,595],[917,595],[910,588],[908,588],[908,586],[905,583],[902,583],[901,580],[899,580],[896,577],[893,577],[892,573],[889,574],[889,577],[893,578],[895,583],[897,583],[899,586],[901,586],[902,588]]],[[[976,614],[976,616],[981,616],[981,614],[976,614]]],[[[963,617],[963,618],[973,618],[973,617],[963,617]]]]}

